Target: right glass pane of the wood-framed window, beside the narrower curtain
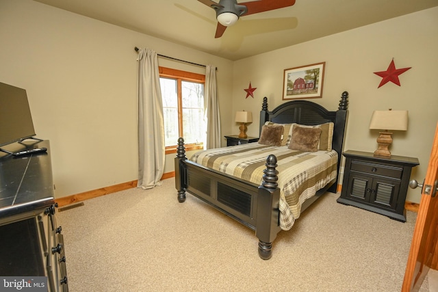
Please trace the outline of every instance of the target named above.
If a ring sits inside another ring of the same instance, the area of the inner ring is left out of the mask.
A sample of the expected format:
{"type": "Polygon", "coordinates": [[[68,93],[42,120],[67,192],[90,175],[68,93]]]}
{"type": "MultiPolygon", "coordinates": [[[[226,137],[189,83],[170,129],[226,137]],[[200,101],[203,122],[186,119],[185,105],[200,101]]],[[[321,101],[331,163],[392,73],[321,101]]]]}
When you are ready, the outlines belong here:
{"type": "Polygon", "coordinates": [[[185,143],[205,141],[204,85],[202,83],[181,82],[183,104],[183,137],[185,143]]]}

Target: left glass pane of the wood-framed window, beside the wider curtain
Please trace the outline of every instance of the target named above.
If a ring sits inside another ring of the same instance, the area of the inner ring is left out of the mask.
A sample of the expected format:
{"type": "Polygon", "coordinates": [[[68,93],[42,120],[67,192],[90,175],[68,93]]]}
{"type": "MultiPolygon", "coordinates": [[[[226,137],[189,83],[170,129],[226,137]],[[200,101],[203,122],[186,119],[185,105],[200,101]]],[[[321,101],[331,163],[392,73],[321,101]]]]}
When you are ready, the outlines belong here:
{"type": "Polygon", "coordinates": [[[159,84],[163,99],[164,144],[172,146],[177,144],[179,138],[177,80],[160,78],[159,84]]]}

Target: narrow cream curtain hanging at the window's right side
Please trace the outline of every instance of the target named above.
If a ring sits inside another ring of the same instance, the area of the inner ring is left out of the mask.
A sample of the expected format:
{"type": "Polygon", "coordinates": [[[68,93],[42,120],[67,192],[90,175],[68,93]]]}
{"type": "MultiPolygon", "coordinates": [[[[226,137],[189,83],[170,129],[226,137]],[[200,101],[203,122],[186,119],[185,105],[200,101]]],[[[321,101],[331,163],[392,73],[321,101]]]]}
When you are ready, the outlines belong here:
{"type": "Polygon", "coordinates": [[[220,147],[220,113],[218,89],[216,85],[216,67],[205,67],[205,116],[207,117],[207,141],[205,148],[220,147]]]}

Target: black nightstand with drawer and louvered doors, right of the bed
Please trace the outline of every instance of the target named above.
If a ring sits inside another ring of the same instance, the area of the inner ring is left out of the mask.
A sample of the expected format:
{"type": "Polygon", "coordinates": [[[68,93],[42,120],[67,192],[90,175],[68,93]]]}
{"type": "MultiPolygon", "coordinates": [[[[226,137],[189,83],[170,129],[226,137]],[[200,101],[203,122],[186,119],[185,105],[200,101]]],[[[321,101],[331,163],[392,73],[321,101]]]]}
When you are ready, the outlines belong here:
{"type": "Polygon", "coordinates": [[[407,189],[411,170],[418,159],[392,155],[374,157],[373,153],[348,150],[341,196],[337,202],[406,222],[407,189]]]}

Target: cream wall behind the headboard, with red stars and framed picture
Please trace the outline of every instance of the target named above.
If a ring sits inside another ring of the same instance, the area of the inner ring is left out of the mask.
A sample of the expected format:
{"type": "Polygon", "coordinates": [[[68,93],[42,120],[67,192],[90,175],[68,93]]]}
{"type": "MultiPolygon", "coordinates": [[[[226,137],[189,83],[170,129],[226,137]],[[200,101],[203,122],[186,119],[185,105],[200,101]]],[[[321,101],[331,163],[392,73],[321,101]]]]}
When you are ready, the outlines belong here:
{"type": "MultiPolygon", "coordinates": [[[[349,119],[344,150],[374,152],[378,131],[368,129],[375,109],[408,109],[409,129],[396,132],[393,155],[417,157],[420,166],[411,178],[423,181],[438,115],[438,8],[432,8],[320,38],[234,63],[233,111],[252,111],[257,121],[263,96],[270,109],[282,101],[283,70],[326,62],[322,98],[312,99],[337,109],[344,90],[350,94],[349,119]],[[400,84],[377,88],[394,58],[396,68],[412,67],[400,75],[400,84]],[[255,98],[245,98],[251,82],[255,98]]],[[[232,133],[238,133],[233,125],[232,133]]],[[[258,136],[259,124],[248,126],[258,136]]],[[[420,202],[420,190],[409,189],[407,200],[420,202]]]]}

